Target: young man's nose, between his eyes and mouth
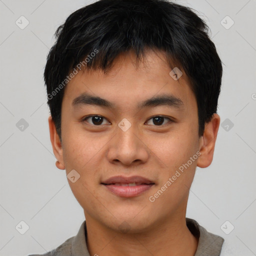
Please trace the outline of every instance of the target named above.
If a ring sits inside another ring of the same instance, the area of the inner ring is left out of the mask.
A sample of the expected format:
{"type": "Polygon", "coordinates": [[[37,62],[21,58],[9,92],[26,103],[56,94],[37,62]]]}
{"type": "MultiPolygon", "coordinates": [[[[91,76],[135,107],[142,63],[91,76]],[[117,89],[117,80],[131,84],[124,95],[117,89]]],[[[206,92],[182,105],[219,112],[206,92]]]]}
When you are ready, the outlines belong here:
{"type": "Polygon", "coordinates": [[[108,161],[123,165],[145,163],[149,158],[150,150],[143,140],[143,136],[136,130],[135,124],[127,130],[117,126],[116,134],[108,143],[108,161]]]}

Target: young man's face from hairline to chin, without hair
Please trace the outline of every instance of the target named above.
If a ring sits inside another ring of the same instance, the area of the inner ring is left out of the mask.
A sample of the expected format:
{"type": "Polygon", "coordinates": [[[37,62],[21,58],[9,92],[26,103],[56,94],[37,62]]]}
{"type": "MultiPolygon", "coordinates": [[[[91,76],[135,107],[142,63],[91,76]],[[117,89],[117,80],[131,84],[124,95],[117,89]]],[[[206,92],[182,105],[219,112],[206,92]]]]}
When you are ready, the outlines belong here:
{"type": "Polygon", "coordinates": [[[184,216],[203,148],[185,73],[174,80],[161,52],[146,58],[136,69],[130,51],[106,74],[78,72],[62,100],[54,153],[67,175],[80,175],[68,182],[86,220],[114,230],[126,223],[139,232],[184,216]]]}

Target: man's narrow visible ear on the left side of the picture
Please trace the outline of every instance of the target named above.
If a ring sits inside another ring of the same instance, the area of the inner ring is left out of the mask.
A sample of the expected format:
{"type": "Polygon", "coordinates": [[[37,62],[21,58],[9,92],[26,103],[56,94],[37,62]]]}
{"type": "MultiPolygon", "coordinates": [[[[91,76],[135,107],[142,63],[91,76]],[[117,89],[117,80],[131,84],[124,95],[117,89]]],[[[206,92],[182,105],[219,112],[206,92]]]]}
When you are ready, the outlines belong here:
{"type": "Polygon", "coordinates": [[[50,142],[53,149],[53,153],[57,158],[56,167],[63,170],[65,169],[64,161],[63,161],[63,150],[61,141],[56,131],[55,123],[52,120],[52,117],[49,116],[48,118],[49,123],[49,131],[50,131],[50,142]]]}

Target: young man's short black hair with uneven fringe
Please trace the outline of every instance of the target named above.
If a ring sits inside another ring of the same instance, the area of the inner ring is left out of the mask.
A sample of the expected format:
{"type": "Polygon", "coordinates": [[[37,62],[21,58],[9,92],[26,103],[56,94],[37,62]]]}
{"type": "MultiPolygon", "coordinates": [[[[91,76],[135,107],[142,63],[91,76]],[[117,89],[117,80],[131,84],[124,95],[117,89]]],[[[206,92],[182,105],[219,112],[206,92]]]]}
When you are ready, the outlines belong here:
{"type": "Polygon", "coordinates": [[[47,103],[60,139],[61,103],[70,70],[80,69],[82,63],[83,68],[105,73],[120,53],[134,50],[138,62],[146,49],[163,50],[170,68],[175,64],[185,71],[202,135],[217,110],[222,77],[208,30],[193,9],[167,0],[99,0],[71,13],[55,32],[44,70],[47,103]]]}

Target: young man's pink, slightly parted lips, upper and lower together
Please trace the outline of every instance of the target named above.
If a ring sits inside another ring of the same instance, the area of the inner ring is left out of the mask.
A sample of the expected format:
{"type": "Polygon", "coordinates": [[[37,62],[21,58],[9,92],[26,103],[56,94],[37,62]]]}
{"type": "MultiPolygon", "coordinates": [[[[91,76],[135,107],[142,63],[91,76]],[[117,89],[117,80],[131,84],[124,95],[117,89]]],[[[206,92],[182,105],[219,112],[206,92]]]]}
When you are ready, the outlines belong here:
{"type": "Polygon", "coordinates": [[[109,191],[117,196],[132,197],[150,189],[154,182],[142,176],[113,176],[101,182],[109,191]],[[133,183],[128,185],[128,183],[133,183]]]}

